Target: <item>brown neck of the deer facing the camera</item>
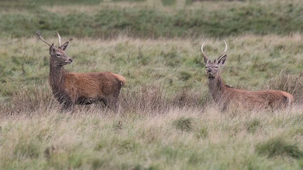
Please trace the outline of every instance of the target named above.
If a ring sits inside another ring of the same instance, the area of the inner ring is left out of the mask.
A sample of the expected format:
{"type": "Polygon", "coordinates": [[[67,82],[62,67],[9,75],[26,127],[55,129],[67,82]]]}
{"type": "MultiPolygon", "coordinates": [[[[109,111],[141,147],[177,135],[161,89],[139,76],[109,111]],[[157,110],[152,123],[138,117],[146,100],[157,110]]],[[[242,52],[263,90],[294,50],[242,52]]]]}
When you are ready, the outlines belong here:
{"type": "Polygon", "coordinates": [[[219,102],[219,100],[222,97],[222,94],[226,90],[226,85],[222,82],[222,79],[220,77],[220,74],[216,77],[208,77],[208,89],[209,92],[212,96],[212,98],[216,101],[219,102]]]}

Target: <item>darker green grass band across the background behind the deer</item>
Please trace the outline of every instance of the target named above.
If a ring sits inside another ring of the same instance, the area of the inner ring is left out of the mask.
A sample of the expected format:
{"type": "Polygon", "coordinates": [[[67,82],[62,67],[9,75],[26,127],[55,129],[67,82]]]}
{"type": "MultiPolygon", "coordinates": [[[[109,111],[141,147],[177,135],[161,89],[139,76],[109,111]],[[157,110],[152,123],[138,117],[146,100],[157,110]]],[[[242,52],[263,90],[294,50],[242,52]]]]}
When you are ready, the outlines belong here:
{"type": "Polygon", "coordinates": [[[73,37],[111,38],[123,34],[157,38],[227,37],[246,33],[285,35],[303,31],[303,3],[299,0],[206,1],[189,4],[183,10],[173,6],[149,7],[147,2],[138,6],[101,2],[83,12],[73,10],[76,6],[72,3],[68,9],[69,5],[41,7],[40,3],[24,4],[19,10],[22,13],[1,13],[0,29],[5,31],[0,35],[30,37],[39,30],[50,36],[56,30],[73,37]]]}

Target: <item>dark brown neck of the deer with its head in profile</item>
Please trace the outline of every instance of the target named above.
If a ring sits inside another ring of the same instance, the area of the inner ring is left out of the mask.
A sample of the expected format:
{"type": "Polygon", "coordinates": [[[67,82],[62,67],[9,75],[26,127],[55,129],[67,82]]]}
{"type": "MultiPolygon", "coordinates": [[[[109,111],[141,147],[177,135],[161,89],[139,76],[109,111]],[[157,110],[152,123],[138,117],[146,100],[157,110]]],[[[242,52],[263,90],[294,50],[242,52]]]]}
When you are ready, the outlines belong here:
{"type": "Polygon", "coordinates": [[[65,70],[63,66],[55,66],[50,63],[49,83],[52,87],[53,94],[58,93],[63,85],[65,70]]]}

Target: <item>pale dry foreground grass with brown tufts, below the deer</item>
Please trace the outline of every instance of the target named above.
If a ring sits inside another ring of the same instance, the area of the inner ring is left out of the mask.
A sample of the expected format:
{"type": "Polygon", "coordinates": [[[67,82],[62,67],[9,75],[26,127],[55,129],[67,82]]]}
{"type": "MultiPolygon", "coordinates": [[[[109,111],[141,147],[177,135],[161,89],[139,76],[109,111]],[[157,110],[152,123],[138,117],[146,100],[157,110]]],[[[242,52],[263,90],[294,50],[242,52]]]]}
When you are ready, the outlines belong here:
{"type": "Polygon", "coordinates": [[[93,104],[62,113],[49,92],[24,90],[14,104],[1,105],[0,167],[302,168],[302,105],[222,113],[183,93],[167,97],[161,88],[143,88],[123,92],[117,111],[93,104]]]}

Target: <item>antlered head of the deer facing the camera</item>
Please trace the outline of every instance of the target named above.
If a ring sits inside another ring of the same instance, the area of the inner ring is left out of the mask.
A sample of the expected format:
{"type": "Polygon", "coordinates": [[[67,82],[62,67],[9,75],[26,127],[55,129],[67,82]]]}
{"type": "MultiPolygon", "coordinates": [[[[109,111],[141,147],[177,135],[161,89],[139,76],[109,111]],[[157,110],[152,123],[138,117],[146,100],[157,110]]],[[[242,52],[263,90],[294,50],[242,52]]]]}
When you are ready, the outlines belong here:
{"type": "Polygon", "coordinates": [[[206,42],[204,42],[202,44],[201,51],[202,51],[202,55],[204,57],[204,62],[206,64],[205,68],[206,68],[207,76],[208,76],[208,78],[215,78],[219,75],[220,66],[222,66],[226,60],[227,55],[225,54],[225,52],[227,51],[227,43],[224,40],[225,50],[219,55],[218,59],[215,59],[213,62],[211,62],[210,59],[208,59],[207,55],[203,51],[203,45],[205,43],[206,42]]]}

